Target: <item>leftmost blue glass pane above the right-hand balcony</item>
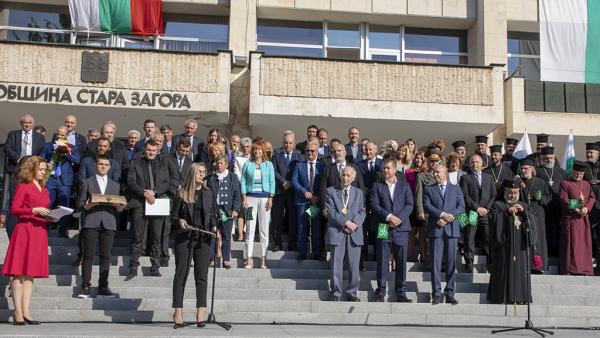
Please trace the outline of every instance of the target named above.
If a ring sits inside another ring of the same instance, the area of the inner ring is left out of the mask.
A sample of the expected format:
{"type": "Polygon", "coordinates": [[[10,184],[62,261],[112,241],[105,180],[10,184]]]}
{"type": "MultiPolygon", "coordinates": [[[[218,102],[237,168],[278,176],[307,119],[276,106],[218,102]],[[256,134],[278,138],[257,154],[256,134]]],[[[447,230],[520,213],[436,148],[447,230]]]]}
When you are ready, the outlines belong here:
{"type": "Polygon", "coordinates": [[[259,20],[257,41],[268,43],[323,45],[321,22],[259,20]]]}

